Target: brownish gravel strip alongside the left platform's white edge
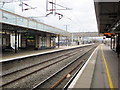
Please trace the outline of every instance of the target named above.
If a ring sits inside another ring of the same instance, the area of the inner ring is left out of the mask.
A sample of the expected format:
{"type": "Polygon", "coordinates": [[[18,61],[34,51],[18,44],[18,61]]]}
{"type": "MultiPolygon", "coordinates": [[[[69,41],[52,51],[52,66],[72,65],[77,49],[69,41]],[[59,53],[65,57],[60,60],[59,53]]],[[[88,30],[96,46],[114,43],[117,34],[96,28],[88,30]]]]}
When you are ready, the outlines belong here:
{"type": "MultiPolygon", "coordinates": [[[[71,50],[68,50],[71,51],[71,50]]],[[[60,56],[62,54],[67,53],[68,51],[62,51],[62,52],[55,52],[47,55],[40,55],[40,56],[35,56],[35,57],[29,57],[29,58],[24,58],[21,60],[16,60],[16,61],[11,61],[11,62],[5,62],[2,63],[2,74],[7,74],[10,73],[11,71],[17,71],[22,68],[37,64],[39,62],[46,61],[50,58],[60,56]]]]}

